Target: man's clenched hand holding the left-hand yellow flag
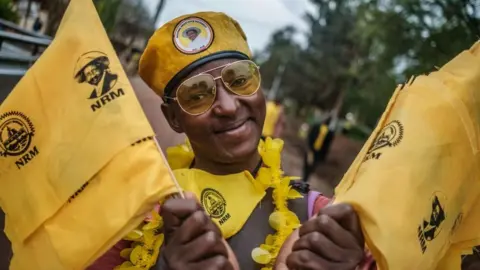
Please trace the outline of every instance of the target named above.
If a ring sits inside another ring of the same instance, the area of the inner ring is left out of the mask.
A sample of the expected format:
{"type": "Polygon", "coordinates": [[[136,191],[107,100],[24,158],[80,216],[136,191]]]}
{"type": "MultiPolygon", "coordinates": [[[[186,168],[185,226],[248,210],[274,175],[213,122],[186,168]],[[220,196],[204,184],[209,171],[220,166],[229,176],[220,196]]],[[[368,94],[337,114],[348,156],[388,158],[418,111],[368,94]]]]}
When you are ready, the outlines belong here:
{"type": "Polygon", "coordinates": [[[186,196],[167,200],[160,211],[166,243],[162,253],[168,269],[235,269],[218,227],[192,194],[186,196]]]}

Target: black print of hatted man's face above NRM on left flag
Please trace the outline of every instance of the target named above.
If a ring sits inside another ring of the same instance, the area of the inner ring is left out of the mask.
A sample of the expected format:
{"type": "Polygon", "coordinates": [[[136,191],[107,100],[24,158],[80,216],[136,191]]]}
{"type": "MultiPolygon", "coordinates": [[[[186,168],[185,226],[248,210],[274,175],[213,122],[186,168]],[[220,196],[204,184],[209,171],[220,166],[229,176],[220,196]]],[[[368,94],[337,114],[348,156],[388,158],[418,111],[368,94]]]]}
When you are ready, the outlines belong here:
{"type": "Polygon", "coordinates": [[[90,87],[88,99],[95,100],[90,105],[94,112],[125,95],[122,88],[115,89],[118,75],[110,69],[110,59],[103,52],[91,51],[80,56],[75,67],[75,79],[90,87]]]}

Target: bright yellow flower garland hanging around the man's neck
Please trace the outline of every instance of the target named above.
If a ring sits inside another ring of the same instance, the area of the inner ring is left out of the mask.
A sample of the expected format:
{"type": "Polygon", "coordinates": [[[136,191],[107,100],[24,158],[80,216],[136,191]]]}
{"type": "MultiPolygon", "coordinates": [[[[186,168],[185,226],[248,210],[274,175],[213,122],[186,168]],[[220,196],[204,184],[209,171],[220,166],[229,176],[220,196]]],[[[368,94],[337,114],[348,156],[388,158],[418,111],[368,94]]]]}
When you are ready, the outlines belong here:
{"type": "MultiPolygon", "coordinates": [[[[297,215],[288,209],[287,200],[301,198],[302,195],[290,186],[290,181],[297,178],[284,176],[281,170],[282,149],[283,141],[280,139],[267,138],[265,142],[261,140],[258,146],[265,167],[258,171],[254,184],[262,190],[273,189],[275,210],[270,214],[268,221],[276,231],[266,237],[265,244],[252,250],[252,259],[264,265],[262,270],[273,268],[283,243],[300,226],[297,215]]],[[[194,158],[188,142],[169,149],[168,156],[172,169],[188,168],[194,158]]],[[[146,270],[154,266],[164,241],[164,235],[160,233],[162,226],[163,220],[158,214],[158,209],[155,209],[145,222],[125,237],[125,240],[132,241],[132,245],[121,251],[120,255],[127,261],[115,269],[146,270]]]]}

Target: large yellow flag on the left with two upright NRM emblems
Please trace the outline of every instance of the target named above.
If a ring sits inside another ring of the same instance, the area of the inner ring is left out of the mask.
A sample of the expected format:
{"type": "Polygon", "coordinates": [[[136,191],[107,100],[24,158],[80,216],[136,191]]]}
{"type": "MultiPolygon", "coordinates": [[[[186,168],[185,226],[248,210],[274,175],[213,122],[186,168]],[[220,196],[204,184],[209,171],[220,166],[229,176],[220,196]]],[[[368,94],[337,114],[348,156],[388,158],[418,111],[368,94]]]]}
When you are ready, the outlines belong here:
{"type": "Polygon", "coordinates": [[[174,191],[91,0],[0,106],[12,269],[84,269],[174,191]]]}

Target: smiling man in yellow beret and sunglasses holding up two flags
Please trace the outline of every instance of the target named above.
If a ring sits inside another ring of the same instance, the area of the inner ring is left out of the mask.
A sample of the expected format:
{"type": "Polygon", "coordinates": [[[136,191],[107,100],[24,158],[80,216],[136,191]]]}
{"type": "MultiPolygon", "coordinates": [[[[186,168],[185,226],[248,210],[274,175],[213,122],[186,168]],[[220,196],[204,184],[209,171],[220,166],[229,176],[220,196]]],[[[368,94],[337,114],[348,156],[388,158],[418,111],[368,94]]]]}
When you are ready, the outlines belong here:
{"type": "Polygon", "coordinates": [[[242,28],[223,13],[184,15],[153,34],[139,74],[165,102],[170,127],[188,138],[167,152],[193,198],[158,205],[89,270],[273,269],[301,224],[298,245],[284,258],[291,269],[371,265],[352,208],[327,206],[328,198],[285,176],[283,141],[261,139],[266,102],[251,58],[242,28]],[[191,29],[201,42],[191,42],[191,29]],[[163,243],[151,238],[159,226],[163,243]]]}

